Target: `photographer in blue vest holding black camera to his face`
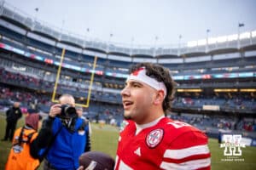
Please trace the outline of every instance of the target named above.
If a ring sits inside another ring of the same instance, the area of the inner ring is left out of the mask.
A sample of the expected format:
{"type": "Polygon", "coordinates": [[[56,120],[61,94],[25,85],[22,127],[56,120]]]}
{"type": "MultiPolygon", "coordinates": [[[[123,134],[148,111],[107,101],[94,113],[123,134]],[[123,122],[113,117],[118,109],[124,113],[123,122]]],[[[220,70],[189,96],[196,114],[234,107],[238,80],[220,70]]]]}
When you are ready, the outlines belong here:
{"type": "Polygon", "coordinates": [[[77,169],[79,156],[89,150],[88,122],[78,116],[73,96],[63,94],[32,142],[31,155],[41,160],[45,156],[44,170],[77,169]]]}

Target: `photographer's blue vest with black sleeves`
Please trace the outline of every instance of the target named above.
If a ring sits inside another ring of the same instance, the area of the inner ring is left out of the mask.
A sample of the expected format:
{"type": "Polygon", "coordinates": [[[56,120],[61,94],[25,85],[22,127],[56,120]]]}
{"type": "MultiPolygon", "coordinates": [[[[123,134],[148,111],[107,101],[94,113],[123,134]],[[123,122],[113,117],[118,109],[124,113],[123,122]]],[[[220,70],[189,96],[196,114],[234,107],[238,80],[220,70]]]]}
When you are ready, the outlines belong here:
{"type": "Polygon", "coordinates": [[[55,169],[70,170],[77,169],[79,167],[79,156],[84,151],[90,150],[90,140],[88,138],[89,126],[88,123],[84,123],[84,119],[77,118],[71,132],[62,125],[60,118],[55,117],[44,121],[38,139],[32,146],[39,150],[39,155],[49,148],[46,155],[49,164],[55,169]]]}

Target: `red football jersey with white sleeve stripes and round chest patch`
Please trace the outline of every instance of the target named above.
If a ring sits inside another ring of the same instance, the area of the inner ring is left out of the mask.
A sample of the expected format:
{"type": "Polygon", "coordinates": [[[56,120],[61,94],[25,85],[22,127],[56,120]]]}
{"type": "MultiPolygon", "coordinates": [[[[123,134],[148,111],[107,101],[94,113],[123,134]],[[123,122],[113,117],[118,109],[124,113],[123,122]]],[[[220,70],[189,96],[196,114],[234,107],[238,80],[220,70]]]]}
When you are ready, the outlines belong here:
{"type": "Polygon", "coordinates": [[[207,136],[188,123],[164,117],[136,131],[129,121],[120,133],[115,170],[211,169],[207,136]]]}

